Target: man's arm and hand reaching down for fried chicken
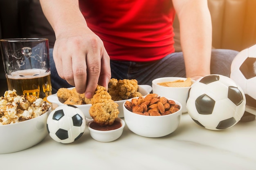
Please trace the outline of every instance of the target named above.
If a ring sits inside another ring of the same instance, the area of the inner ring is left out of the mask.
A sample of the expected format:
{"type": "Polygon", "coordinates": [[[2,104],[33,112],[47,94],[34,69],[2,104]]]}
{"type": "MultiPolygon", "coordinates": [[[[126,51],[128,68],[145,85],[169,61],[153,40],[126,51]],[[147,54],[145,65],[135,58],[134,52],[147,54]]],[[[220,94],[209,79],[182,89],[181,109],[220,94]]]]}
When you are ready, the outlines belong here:
{"type": "Polygon", "coordinates": [[[58,75],[91,98],[97,84],[108,88],[110,59],[101,39],[87,26],[78,0],[40,0],[56,42],[54,62],[58,75]]]}

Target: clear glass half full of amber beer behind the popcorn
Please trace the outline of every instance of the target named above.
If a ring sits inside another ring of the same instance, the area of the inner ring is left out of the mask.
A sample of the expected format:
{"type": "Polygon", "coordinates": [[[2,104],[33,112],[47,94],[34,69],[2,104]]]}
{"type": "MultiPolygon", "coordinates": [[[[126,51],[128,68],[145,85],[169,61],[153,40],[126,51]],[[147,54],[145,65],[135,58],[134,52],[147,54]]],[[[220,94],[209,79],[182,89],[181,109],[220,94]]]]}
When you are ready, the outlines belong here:
{"type": "Polygon", "coordinates": [[[0,46],[8,89],[47,101],[52,94],[48,39],[2,39],[0,46]]]}

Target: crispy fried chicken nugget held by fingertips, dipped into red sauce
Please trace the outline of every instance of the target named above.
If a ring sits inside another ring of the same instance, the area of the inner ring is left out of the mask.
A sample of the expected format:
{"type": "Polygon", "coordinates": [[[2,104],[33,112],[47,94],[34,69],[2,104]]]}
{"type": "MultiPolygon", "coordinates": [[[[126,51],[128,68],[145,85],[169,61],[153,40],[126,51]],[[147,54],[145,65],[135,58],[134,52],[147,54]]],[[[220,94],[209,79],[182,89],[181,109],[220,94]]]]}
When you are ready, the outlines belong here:
{"type": "Polygon", "coordinates": [[[118,104],[115,103],[110,94],[103,86],[97,86],[97,89],[91,99],[92,106],[89,110],[90,116],[99,126],[110,126],[118,117],[118,104]]]}

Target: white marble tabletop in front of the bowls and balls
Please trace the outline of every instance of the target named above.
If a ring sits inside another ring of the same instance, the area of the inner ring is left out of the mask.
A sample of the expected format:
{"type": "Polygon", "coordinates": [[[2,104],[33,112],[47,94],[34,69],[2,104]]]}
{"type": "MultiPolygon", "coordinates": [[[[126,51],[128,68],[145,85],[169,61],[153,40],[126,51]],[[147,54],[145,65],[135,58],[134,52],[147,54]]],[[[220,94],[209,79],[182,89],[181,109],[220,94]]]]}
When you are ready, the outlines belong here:
{"type": "MultiPolygon", "coordinates": [[[[0,146],[4,147],[4,146],[0,146]]],[[[256,120],[213,131],[187,113],[179,127],[161,138],[147,138],[127,126],[116,141],[102,143],[88,129],[72,144],[49,135],[38,145],[0,154],[1,170],[256,170],[256,120]]]]}

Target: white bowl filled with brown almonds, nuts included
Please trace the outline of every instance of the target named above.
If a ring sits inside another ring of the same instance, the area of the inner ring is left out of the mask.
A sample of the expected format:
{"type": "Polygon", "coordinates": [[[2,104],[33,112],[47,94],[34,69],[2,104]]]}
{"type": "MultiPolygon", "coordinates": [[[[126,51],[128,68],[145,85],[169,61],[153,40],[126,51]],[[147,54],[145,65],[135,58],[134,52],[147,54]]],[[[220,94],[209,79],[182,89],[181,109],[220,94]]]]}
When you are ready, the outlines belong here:
{"type": "Polygon", "coordinates": [[[123,104],[128,128],[144,137],[163,137],[174,132],[180,124],[182,105],[176,100],[155,93],[137,97],[123,104]]]}

